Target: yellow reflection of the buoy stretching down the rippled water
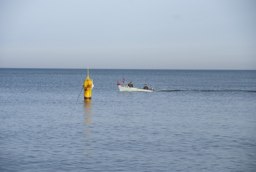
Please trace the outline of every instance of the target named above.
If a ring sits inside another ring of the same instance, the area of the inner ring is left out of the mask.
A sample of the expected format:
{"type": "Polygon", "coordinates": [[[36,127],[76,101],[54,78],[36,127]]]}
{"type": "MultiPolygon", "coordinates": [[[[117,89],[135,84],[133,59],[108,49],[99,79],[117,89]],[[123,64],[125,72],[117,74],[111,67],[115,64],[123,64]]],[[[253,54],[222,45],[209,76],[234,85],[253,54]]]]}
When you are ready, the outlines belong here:
{"type": "Polygon", "coordinates": [[[90,99],[84,100],[84,134],[85,134],[85,160],[90,160],[90,150],[92,138],[90,133],[92,132],[92,102],[90,99]]]}

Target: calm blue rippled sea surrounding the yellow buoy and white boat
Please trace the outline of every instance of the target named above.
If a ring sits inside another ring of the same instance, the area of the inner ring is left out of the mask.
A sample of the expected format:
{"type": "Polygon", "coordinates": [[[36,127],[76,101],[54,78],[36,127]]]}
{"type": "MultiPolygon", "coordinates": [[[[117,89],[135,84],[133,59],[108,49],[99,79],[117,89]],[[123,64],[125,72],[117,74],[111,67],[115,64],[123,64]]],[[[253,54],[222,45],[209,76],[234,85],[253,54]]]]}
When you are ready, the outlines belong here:
{"type": "Polygon", "coordinates": [[[255,171],[256,71],[0,69],[0,171],[255,171]],[[156,92],[119,92],[122,78],[156,92]]]}

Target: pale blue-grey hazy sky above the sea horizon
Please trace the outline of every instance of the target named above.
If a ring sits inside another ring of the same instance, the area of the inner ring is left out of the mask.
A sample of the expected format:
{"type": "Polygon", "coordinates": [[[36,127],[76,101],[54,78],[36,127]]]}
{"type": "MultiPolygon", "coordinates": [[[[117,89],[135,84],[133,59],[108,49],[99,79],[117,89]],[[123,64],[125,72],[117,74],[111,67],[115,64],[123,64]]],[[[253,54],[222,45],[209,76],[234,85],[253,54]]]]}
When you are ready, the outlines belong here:
{"type": "Polygon", "coordinates": [[[256,1],[0,0],[0,68],[256,69],[256,1]]]}

